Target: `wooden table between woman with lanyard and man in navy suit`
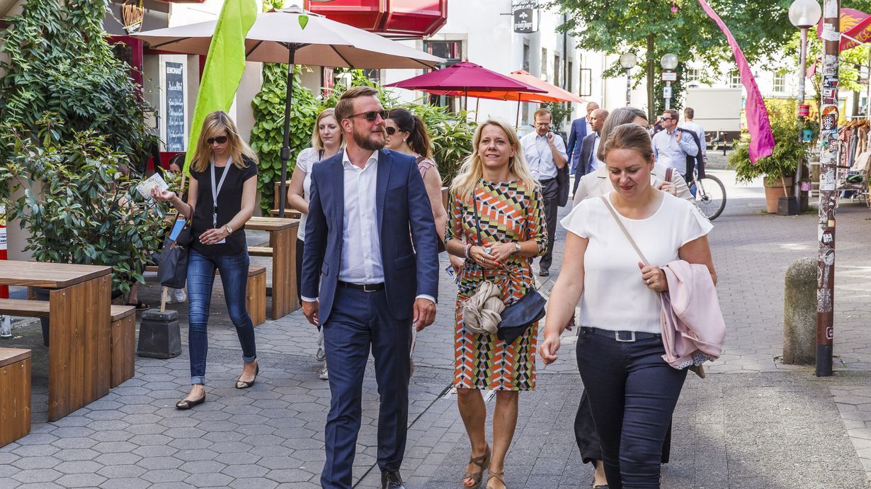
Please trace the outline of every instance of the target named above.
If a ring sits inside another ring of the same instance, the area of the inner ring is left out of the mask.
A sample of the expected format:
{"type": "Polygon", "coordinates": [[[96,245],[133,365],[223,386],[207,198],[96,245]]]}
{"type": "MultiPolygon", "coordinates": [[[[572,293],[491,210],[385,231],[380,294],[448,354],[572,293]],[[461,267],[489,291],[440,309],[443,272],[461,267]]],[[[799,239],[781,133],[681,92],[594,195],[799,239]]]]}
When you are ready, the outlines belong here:
{"type": "Polygon", "coordinates": [[[299,227],[299,219],[279,217],[252,217],[245,225],[246,229],[269,232],[269,246],[273,248],[273,319],[300,309],[296,295],[296,231],[299,227]]]}

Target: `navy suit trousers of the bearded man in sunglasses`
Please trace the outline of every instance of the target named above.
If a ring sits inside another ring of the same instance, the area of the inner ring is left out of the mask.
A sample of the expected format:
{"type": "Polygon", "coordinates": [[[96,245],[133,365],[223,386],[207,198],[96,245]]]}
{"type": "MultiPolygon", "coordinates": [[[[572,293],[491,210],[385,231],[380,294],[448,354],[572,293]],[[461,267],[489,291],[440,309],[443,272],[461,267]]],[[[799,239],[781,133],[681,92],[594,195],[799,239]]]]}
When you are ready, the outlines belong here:
{"type": "Polygon", "coordinates": [[[381,396],[378,466],[382,471],[398,471],[402,465],[408,429],[411,318],[398,321],[390,315],[384,289],[364,292],[340,285],[323,330],[332,398],[324,436],[327,461],[321,486],[348,489],[370,348],[381,396]]]}

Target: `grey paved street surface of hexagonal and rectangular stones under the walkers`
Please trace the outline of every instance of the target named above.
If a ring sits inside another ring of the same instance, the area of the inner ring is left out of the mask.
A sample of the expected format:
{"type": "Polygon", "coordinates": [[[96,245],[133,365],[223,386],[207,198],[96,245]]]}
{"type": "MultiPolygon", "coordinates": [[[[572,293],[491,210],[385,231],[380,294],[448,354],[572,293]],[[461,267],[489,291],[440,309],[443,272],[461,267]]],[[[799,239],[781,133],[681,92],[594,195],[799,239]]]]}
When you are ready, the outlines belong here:
{"type": "MultiPolygon", "coordinates": [[[[847,201],[839,209],[835,375],[817,378],[813,367],[777,361],[784,272],[792,261],[816,254],[815,214],[764,214],[759,185],[736,187],[733,173],[714,173],[726,182],[729,196],[710,236],[728,327],[726,351],[710,365],[708,378],[691,376],[685,385],[663,487],[868,487],[871,210],[847,201]]],[[[262,238],[250,236],[251,241],[262,238]]],[[[558,264],[560,245],[556,253],[558,264]]],[[[556,274],[540,283],[545,293],[555,279],[556,274]]],[[[449,391],[454,290],[443,275],[436,324],[416,342],[402,465],[409,488],[459,486],[469,456],[456,399],[449,391]]],[[[146,302],[159,302],[153,283],[140,295],[146,302]]],[[[47,422],[46,351],[38,323],[17,322],[16,337],[0,345],[34,350],[33,429],[0,448],[0,488],[317,487],[329,391],[317,377],[314,328],[299,312],[259,326],[258,383],[250,390],[235,390],[239,343],[219,284],[213,297],[207,402],[192,411],[173,407],[189,382],[185,350],[171,360],[137,358],[136,377],[70,416],[47,422]]],[[[184,304],[170,307],[186,317],[184,304]]],[[[183,325],[184,341],[185,329],[183,325]]],[[[560,361],[547,368],[539,363],[537,390],[521,396],[517,435],[506,460],[511,487],[590,484],[590,468],[581,464],[571,431],[583,391],[573,339],[573,333],[564,334],[560,361]]],[[[380,476],[371,370],[370,364],[354,461],[356,486],[367,488],[377,487],[380,476]]]]}

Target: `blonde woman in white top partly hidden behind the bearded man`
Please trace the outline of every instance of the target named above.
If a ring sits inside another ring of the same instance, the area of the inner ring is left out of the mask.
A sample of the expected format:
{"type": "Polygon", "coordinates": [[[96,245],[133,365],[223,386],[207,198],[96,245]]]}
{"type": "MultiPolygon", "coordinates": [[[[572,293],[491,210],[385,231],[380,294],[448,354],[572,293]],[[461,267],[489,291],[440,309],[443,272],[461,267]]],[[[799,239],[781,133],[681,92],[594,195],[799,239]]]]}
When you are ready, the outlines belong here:
{"type": "MultiPolygon", "coordinates": [[[[287,186],[287,203],[300,211],[300,228],[296,231],[296,290],[300,291],[302,276],[302,249],[306,241],[306,216],[308,214],[308,195],[312,185],[312,165],[341,151],[343,143],[341,128],[333,115],[333,109],[325,109],[318,114],[312,131],[312,147],[300,151],[296,157],[294,175],[287,186]]],[[[320,329],[320,326],[318,327],[320,329]]],[[[319,357],[322,356],[319,349],[319,357]]],[[[327,380],[327,360],[322,360],[320,377],[327,380]]]]}

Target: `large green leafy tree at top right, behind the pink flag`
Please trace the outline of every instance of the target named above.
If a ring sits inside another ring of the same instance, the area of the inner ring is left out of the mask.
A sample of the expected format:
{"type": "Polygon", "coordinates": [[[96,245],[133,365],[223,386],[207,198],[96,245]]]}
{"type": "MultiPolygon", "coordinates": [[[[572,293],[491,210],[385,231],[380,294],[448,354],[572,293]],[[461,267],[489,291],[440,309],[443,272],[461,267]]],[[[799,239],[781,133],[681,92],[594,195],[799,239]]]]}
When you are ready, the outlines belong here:
{"type": "MultiPolygon", "coordinates": [[[[708,3],[724,19],[751,63],[780,55],[784,44],[796,32],[787,17],[792,0],[709,0],[708,3]]],[[[733,62],[734,59],[726,37],[707,17],[697,0],[677,0],[677,13],[672,13],[671,3],[659,0],[552,0],[549,4],[567,15],[561,30],[576,36],[578,47],[611,54],[634,52],[638,55],[641,70],[635,83],[646,78],[647,106],[651,117],[662,106],[662,85],[657,86],[656,79],[661,71],[659,59],[665,53],[677,54],[681,62],[690,59],[703,61],[707,69],[702,72],[702,82],[719,78],[722,75],[718,71],[720,62],[733,62]]],[[[858,0],[843,6],[868,11],[871,1],[858,0]]],[[[605,77],[623,73],[615,62],[605,71],[605,77]]],[[[679,101],[682,91],[681,85],[672,84],[676,96],[672,102],[679,101]]]]}

